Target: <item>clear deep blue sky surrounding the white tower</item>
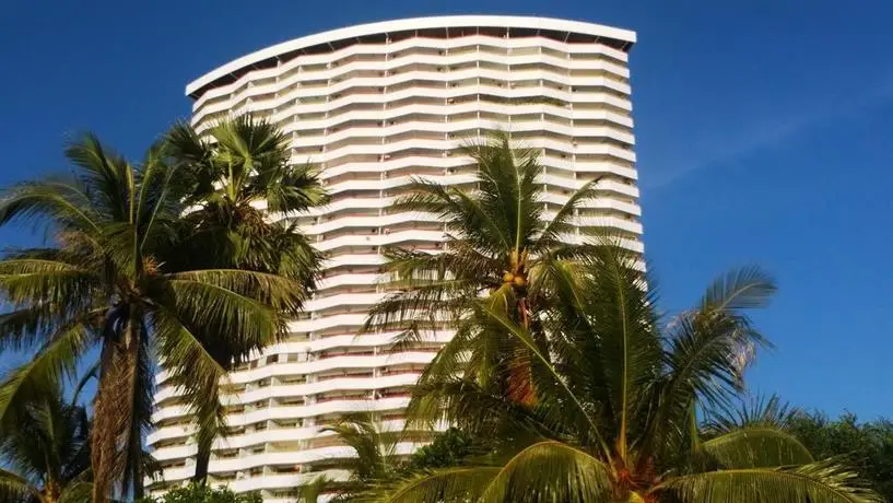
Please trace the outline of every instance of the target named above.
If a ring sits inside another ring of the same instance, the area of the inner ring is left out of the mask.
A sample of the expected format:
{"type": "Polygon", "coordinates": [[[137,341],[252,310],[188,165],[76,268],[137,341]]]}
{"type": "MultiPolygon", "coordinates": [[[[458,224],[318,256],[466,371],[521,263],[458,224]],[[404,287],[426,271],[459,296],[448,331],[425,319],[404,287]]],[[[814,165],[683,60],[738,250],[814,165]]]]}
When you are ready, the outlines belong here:
{"type": "MultiPolygon", "coordinates": [[[[760,356],[753,388],[893,416],[888,0],[12,0],[0,15],[0,184],[63,168],[62,142],[84,129],[138,156],[188,115],[188,81],[255,49],[459,13],[637,31],[645,242],[663,306],[685,307],[726,268],[760,264],[780,293],[756,317],[777,349],[760,356]]],[[[2,245],[34,239],[0,230],[2,245]]]]}

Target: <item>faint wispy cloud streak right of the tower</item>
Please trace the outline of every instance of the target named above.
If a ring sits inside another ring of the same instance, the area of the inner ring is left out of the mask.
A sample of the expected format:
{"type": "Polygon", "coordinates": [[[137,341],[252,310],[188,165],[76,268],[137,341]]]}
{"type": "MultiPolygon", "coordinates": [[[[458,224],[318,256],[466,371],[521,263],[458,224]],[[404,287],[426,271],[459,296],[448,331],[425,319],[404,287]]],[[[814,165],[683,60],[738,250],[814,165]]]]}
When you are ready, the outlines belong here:
{"type": "MultiPolygon", "coordinates": [[[[650,176],[644,177],[643,186],[648,189],[666,187],[693,172],[736,161],[759,150],[796,138],[832,120],[865,114],[893,101],[893,77],[884,84],[871,89],[872,91],[857,95],[855,98],[832,101],[832,105],[820,106],[799,114],[788,114],[777,120],[765,121],[757,127],[736,132],[729,140],[715,143],[706,152],[694,154],[683,162],[673,162],[672,166],[667,166],[660,172],[653,172],[650,176]]],[[[661,160],[653,162],[661,163],[661,160]]]]}

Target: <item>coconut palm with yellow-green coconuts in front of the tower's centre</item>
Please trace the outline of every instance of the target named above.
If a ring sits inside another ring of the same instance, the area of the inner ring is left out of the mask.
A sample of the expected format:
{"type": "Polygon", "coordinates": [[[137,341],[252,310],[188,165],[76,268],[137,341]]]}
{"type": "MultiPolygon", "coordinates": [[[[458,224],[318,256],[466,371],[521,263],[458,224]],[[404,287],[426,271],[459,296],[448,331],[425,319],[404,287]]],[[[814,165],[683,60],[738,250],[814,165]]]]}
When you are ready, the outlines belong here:
{"type": "Polygon", "coordinates": [[[576,259],[589,249],[568,243],[576,209],[597,196],[592,180],[569,196],[547,217],[545,188],[539,180],[543,167],[538,153],[513,149],[507,133],[495,132],[484,142],[462,149],[477,164],[475,189],[416,179],[410,194],[398,199],[395,211],[423,211],[440,218],[448,230],[438,254],[392,249],[386,271],[397,289],[369,313],[366,329],[409,327],[401,341],[412,342],[419,329],[449,321],[456,336],[423,375],[450,372],[458,355],[471,353],[466,372],[487,382],[495,366],[512,369],[503,386],[516,401],[531,402],[529,354],[514,340],[496,340],[490,332],[467,325],[474,300],[485,295],[509,319],[525,328],[536,323],[536,311],[549,301],[552,273],[557,264],[576,259]]]}

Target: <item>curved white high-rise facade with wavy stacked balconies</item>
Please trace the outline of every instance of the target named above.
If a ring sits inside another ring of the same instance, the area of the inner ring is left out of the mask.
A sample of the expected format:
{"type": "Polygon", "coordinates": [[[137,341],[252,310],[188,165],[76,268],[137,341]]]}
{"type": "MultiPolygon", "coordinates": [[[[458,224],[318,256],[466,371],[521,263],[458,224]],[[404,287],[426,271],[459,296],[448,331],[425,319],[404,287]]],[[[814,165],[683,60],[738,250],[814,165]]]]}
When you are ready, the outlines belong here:
{"type": "MultiPolygon", "coordinates": [[[[294,162],[318,164],[332,195],[299,219],[327,255],[325,278],[291,339],[233,373],[233,432],[215,446],[212,481],[294,501],[291,492],[313,473],[343,476],[338,459],[350,449],[320,433],[322,424],[361,410],[402,424],[411,386],[450,332],[399,352],[389,346],[393,334],[356,332],[386,294],[381,247],[442,246],[442,223],[392,213],[391,200],[414,176],[470,184],[474,167],[456,153],[469,137],[504,129],[540,149],[547,214],[602,177],[602,197],[579,210],[578,225],[612,226],[642,252],[627,68],[634,42],[624,30],[551,19],[400,20],[279,44],[187,86],[197,128],[245,113],[274,121],[292,137],[294,162]]],[[[165,482],[153,491],[193,471],[192,429],[164,377],[148,442],[165,482]]]]}

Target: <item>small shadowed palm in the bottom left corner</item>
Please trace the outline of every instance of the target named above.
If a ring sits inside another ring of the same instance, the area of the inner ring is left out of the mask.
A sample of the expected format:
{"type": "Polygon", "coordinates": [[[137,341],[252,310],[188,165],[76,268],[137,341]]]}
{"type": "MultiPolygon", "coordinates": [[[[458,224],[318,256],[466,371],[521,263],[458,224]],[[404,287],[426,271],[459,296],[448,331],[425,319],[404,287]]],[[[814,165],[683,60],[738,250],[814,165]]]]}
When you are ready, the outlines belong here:
{"type": "Polygon", "coordinates": [[[0,429],[0,500],[10,503],[86,501],[90,422],[86,410],[52,387],[16,410],[0,429]]]}

